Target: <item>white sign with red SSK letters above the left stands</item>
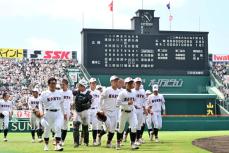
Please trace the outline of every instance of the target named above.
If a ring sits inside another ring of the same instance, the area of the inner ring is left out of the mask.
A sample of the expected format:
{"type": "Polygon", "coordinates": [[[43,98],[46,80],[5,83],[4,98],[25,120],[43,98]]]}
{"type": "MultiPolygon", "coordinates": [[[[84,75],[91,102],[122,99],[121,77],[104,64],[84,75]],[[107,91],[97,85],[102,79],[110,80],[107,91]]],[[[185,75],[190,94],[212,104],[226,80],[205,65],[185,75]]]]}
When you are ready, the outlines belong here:
{"type": "Polygon", "coordinates": [[[69,51],[45,51],[44,59],[70,59],[69,51]]]}

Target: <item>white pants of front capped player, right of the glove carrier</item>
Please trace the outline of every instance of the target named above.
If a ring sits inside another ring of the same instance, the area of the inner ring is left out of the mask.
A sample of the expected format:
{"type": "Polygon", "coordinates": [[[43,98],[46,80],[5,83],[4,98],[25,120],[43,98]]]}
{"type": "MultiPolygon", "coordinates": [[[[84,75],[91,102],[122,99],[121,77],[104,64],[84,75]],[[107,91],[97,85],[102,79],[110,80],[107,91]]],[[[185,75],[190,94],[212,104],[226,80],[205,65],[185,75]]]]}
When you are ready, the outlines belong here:
{"type": "Polygon", "coordinates": [[[135,110],[131,112],[121,111],[120,116],[119,116],[119,129],[118,129],[119,133],[122,133],[124,131],[126,122],[129,123],[131,132],[135,133],[137,130],[137,124],[138,124],[135,110]]]}

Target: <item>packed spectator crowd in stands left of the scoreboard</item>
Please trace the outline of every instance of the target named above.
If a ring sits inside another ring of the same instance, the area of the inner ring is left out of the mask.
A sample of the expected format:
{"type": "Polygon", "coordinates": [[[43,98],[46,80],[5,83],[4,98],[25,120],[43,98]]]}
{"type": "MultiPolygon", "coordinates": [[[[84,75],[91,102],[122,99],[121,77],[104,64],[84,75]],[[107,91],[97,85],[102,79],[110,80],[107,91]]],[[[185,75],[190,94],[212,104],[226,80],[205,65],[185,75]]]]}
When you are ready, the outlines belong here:
{"type": "Polygon", "coordinates": [[[16,109],[28,109],[27,98],[32,88],[44,90],[49,77],[66,78],[66,68],[76,64],[74,60],[0,59],[0,95],[7,91],[16,109]]]}

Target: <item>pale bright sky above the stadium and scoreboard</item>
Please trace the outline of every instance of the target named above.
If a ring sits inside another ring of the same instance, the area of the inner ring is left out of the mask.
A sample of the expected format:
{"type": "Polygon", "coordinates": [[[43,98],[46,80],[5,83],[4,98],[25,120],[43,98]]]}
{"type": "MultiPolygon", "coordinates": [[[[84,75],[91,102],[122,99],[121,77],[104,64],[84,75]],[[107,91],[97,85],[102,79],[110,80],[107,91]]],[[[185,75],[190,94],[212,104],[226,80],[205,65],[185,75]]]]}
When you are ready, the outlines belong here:
{"type": "MultiPolygon", "coordinates": [[[[81,50],[82,27],[111,28],[111,0],[0,0],[0,48],[81,50]]],[[[169,0],[144,0],[169,30],[169,0]]],[[[229,53],[229,0],[170,0],[172,30],[208,31],[209,52],[229,53]]],[[[142,0],[114,0],[114,28],[130,29],[142,0]]]]}

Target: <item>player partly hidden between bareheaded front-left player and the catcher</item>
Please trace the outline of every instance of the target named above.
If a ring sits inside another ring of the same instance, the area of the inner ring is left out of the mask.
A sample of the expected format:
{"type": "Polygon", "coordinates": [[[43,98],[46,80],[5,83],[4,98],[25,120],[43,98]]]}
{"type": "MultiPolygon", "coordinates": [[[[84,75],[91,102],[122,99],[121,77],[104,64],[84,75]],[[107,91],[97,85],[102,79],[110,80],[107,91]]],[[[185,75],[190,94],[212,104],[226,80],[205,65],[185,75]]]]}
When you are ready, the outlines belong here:
{"type": "Polygon", "coordinates": [[[62,95],[64,97],[64,109],[66,110],[67,118],[63,122],[61,129],[61,144],[64,145],[65,138],[67,136],[68,121],[71,117],[71,105],[73,104],[73,94],[72,91],[68,89],[68,80],[63,79],[62,84],[62,95]]]}

